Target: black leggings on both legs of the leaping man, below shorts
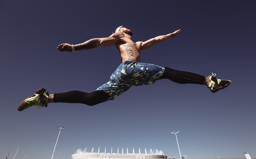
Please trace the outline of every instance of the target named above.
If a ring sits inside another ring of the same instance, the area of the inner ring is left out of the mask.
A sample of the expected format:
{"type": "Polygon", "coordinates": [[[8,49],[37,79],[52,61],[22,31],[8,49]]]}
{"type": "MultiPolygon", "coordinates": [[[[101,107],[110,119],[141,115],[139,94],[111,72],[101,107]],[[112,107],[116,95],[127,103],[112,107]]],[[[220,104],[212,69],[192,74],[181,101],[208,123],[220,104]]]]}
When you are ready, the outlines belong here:
{"type": "MultiPolygon", "coordinates": [[[[193,83],[204,84],[205,77],[191,72],[173,70],[165,67],[164,74],[159,79],[169,79],[175,83],[193,83]]],[[[93,91],[86,93],[83,91],[68,91],[65,93],[54,94],[54,102],[67,102],[67,103],[83,103],[86,105],[97,105],[110,98],[105,91],[93,91]]]]}

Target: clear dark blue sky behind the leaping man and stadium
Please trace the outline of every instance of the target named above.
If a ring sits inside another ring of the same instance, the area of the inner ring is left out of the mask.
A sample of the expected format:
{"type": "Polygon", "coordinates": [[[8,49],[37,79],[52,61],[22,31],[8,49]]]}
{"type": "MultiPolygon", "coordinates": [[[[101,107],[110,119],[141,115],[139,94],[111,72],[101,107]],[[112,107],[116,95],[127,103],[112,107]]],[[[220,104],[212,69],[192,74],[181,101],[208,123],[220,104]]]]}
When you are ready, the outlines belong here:
{"type": "MultiPolygon", "coordinates": [[[[256,158],[254,0],[148,1],[44,0],[0,2],[0,157],[69,159],[88,147],[162,150],[179,157],[256,158]],[[51,94],[94,91],[120,64],[112,47],[58,52],[61,43],[107,37],[120,25],[134,41],[182,29],[175,38],[141,52],[141,61],[231,79],[212,94],[207,87],[168,80],[132,87],[94,107],[53,103],[17,111],[40,87],[51,94]],[[62,155],[61,155],[62,154],[62,155]],[[65,156],[64,156],[65,154],[65,156]],[[62,157],[60,157],[62,156],[62,157]]],[[[121,152],[121,151],[119,151],[121,152]]]]}

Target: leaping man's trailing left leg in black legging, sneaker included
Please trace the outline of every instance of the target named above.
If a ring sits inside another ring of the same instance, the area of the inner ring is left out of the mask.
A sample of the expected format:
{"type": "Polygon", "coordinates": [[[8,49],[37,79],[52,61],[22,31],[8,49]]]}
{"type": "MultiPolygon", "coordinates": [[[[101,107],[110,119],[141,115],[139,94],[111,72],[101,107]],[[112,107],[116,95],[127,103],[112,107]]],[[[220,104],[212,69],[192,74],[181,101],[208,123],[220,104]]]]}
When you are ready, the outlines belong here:
{"type": "Polygon", "coordinates": [[[51,102],[83,103],[86,105],[96,105],[110,98],[105,91],[93,91],[86,93],[82,91],[68,91],[65,93],[49,94],[45,88],[38,89],[33,96],[23,100],[18,106],[18,111],[38,105],[38,107],[47,107],[51,102]]]}

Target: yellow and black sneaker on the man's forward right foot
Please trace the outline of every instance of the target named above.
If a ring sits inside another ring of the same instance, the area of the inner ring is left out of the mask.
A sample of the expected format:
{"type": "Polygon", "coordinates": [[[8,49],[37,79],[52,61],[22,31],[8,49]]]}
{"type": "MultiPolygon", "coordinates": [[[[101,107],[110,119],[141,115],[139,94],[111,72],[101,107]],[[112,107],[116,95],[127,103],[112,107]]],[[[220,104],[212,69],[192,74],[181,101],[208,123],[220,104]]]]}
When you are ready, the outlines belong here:
{"type": "Polygon", "coordinates": [[[209,75],[207,78],[209,78],[210,82],[207,83],[207,87],[210,88],[211,92],[215,93],[216,91],[220,89],[224,89],[227,86],[229,86],[232,82],[230,80],[221,80],[216,77],[216,74],[209,75]]]}

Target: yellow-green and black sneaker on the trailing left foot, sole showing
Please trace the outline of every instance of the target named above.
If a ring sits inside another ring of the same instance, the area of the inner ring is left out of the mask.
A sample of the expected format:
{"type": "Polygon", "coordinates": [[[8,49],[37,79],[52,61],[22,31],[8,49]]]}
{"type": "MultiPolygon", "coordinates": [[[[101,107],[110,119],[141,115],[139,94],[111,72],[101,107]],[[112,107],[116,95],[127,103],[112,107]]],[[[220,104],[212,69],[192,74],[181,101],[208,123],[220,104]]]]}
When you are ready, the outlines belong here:
{"type": "Polygon", "coordinates": [[[38,105],[38,108],[47,107],[47,102],[49,100],[49,92],[45,88],[38,89],[33,96],[30,96],[23,100],[18,106],[18,111],[23,111],[29,107],[38,105]]]}

